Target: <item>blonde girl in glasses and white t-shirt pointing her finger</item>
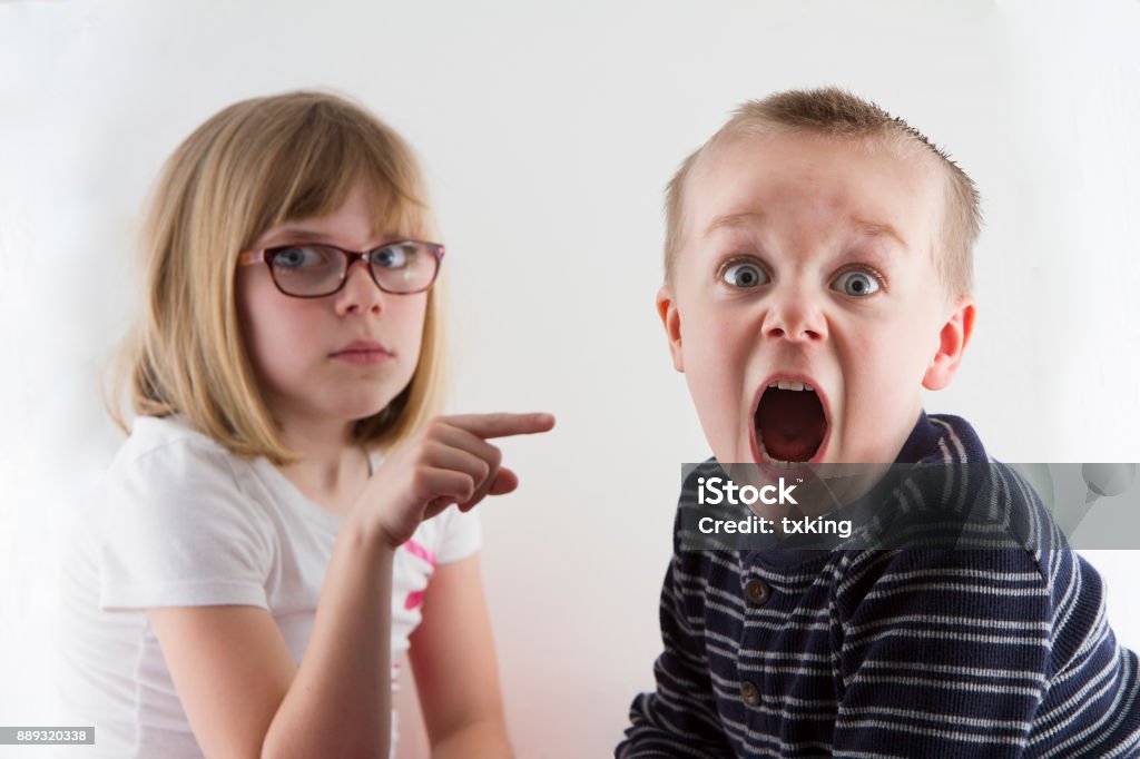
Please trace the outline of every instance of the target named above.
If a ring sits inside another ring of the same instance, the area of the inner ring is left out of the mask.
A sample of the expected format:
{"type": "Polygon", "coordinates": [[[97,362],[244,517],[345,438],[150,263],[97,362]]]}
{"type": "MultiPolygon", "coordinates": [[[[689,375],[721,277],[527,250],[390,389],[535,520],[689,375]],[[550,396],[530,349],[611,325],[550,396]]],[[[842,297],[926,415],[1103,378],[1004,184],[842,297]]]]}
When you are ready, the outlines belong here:
{"type": "Polygon", "coordinates": [[[238,103],[169,160],[138,416],[64,573],[96,745],[386,757],[407,650],[433,753],[510,754],[467,512],[518,484],[487,439],[553,418],[427,421],[435,238],[410,149],[334,96],[238,103]]]}

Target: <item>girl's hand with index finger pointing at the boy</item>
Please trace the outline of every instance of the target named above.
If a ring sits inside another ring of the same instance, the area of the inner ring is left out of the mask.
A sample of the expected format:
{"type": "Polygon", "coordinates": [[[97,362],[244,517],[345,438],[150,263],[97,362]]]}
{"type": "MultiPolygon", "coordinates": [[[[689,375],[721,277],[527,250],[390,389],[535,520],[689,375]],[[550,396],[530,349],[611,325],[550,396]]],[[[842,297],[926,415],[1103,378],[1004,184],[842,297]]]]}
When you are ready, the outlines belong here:
{"type": "Polygon", "coordinates": [[[424,520],[451,504],[467,511],[484,496],[519,487],[499,466],[503,454],[490,438],[534,434],[554,426],[549,414],[465,414],[429,422],[372,475],[356,512],[393,549],[424,520]]]}

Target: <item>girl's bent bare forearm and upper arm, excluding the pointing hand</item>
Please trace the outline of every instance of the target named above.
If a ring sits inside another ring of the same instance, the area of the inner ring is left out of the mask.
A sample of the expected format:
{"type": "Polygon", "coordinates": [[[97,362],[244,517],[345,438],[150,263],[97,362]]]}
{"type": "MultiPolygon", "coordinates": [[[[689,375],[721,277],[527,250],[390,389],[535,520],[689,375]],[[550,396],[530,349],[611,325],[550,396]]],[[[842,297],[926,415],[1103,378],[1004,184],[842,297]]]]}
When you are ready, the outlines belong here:
{"type": "Polygon", "coordinates": [[[300,667],[263,609],[148,611],[205,756],[388,756],[392,555],[345,523],[300,667]]]}

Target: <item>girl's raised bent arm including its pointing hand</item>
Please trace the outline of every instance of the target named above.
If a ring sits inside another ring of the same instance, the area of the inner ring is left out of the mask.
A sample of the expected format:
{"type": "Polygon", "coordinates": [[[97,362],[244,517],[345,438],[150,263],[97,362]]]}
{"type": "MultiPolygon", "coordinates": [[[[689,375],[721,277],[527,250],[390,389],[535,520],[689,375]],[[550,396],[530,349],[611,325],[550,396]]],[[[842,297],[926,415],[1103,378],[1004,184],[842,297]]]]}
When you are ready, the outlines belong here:
{"type": "Polygon", "coordinates": [[[448,504],[470,508],[514,489],[487,438],[551,426],[547,415],[446,417],[396,451],[337,533],[300,667],[266,610],[148,610],[203,752],[386,759],[396,548],[448,504]]]}

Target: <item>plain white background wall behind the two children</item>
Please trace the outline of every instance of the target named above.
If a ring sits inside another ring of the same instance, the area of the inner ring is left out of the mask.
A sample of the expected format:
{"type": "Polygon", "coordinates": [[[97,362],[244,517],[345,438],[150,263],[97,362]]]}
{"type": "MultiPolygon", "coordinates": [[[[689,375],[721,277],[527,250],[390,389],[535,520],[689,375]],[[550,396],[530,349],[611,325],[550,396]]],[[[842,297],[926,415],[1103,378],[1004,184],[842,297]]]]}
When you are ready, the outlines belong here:
{"type": "MultiPolygon", "coordinates": [[[[520,756],[605,756],[652,685],[678,467],[708,455],[653,311],[662,187],[744,99],[850,88],[980,186],[977,333],[928,410],[1010,462],[1140,460],[1140,3],[855,5],[0,2],[0,724],[67,724],[52,534],[119,443],[97,384],[138,222],[245,97],[333,88],[415,145],[450,408],[559,416],[505,443],[522,489],[480,507],[520,756]]],[[[1089,557],[1140,647],[1140,554],[1089,557]]]]}

